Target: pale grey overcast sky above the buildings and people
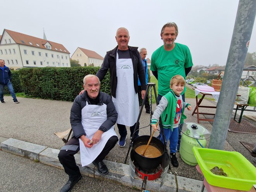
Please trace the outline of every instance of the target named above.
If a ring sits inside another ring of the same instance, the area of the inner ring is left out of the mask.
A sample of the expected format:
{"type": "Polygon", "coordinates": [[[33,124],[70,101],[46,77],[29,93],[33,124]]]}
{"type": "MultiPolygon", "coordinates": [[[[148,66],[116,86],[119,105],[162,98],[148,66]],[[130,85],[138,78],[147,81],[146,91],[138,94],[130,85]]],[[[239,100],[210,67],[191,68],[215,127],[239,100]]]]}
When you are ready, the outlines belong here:
{"type": "MultiPolygon", "coordinates": [[[[0,30],[61,43],[105,56],[116,47],[116,29],[130,32],[130,46],[145,47],[148,57],[163,45],[161,28],[175,22],[177,43],[190,48],[194,65],[227,62],[239,0],[3,0],[0,30]]],[[[248,52],[256,52],[256,23],[248,52]]]]}

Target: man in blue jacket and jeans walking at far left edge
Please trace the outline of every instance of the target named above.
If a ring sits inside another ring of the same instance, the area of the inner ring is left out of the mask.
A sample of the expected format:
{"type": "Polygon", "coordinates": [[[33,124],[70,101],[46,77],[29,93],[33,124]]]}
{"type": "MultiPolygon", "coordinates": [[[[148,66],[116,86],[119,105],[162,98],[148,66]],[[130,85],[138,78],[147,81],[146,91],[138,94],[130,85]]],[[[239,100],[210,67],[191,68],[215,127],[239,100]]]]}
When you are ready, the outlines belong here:
{"type": "Polygon", "coordinates": [[[19,103],[19,101],[16,99],[16,95],[12,87],[12,83],[10,82],[11,80],[12,80],[12,73],[9,67],[6,67],[4,60],[0,59],[0,102],[2,104],[5,104],[5,101],[3,100],[3,88],[5,86],[8,87],[10,94],[12,95],[13,102],[19,103]]]}

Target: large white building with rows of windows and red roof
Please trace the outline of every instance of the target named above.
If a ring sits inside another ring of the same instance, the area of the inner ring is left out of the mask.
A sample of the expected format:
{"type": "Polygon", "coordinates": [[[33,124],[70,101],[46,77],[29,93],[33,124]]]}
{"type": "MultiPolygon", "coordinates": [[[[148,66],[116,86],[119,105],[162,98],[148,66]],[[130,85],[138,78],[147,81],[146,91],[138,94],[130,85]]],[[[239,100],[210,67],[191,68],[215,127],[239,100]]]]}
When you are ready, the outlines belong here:
{"type": "Polygon", "coordinates": [[[61,44],[7,29],[0,37],[0,59],[7,67],[70,67],[69,52],[61,44]]]}

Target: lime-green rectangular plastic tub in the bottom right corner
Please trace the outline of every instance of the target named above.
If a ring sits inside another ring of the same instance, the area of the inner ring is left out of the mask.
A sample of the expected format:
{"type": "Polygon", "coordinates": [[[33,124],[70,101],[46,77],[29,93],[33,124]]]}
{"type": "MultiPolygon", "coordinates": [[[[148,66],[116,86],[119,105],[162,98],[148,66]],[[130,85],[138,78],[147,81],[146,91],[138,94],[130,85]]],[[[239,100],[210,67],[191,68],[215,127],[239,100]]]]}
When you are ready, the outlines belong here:
{"type": "Polygon", "coordinates": [[[195,158],[210,185],[236,190],[250,190],[256,183],[256,168],[236,151],[193,147],[195,158]],[[213,174],[210,170],[218,166],[226,176],[213,174]]]}

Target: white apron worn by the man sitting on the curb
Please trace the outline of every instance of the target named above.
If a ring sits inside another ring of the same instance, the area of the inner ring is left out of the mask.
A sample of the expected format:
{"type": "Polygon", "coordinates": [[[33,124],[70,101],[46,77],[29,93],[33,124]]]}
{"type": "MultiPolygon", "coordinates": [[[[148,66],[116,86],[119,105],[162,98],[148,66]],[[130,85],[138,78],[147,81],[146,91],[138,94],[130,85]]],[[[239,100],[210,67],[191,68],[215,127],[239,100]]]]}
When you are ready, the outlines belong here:
{"type": "MultiPolygon", "coordinates": [[[[107,119],[107,105],[104,104],[102,106],[97,105],[88,105],[86,101],[86,106],[82,109],[82,125],[85,130],[86,137],[92,139],[94,133],[99,130],[99,127],[102,125],[104,121],[107,119]]],[[[114,126],[110,128],[110,130],[104,132],[101,136],[100,141],[93,145],[92,148],[85,147],[83,141],[79,139],[80,143],[80,157],[82,166],[86,166],[99,156],[105,147],[107,141],[110,137],[116,135],[114,131],[114,126]]],[[[117,136],[117,135],[116,135],[117,136]]]]}

